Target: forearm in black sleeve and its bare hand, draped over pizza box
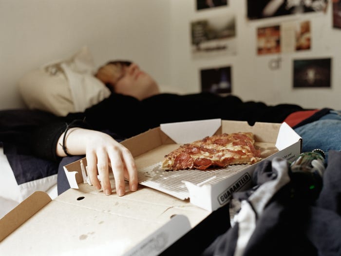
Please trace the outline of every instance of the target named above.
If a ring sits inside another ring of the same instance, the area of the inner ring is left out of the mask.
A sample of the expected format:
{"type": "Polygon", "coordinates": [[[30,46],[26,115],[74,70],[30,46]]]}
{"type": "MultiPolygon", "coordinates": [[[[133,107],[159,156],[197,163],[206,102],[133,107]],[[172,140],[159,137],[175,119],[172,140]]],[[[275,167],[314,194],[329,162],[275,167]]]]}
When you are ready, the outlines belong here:
{"type": "Polygon", "coordinates": [[[32,134],[32,151],[40,158],[59,161],[69,155],[85,155],[88,164],[88,176],[96,189],[103,189],[106,195],[112,193],[109,172],[111,166],[118,196],[125,194],[125,179],[129,180],[131,191],[137,190],[137,171],[130,151],[110,135],[88,129],[83,123],[71,122],[67,127],[60,120],[38,127],[32,134]],[[76,127],[75,127],[76,126],[76,127]],[[66,136],[64,139],[64,133],[66,136]],[[63,139],[64,148],[63,150],[63,139]],[[98,171],[97,171],[98,170],[98,171]],[[101,180],[99,182],[97,174],[101,180]]]}

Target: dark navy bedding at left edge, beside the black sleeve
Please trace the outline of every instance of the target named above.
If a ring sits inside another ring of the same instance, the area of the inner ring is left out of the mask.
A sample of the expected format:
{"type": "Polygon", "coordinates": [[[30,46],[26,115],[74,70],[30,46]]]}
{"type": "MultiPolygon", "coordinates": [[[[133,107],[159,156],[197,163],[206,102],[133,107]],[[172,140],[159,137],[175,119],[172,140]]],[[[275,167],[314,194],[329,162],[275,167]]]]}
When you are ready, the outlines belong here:
{"type": "Polygon", "coordinates": [[[0,145],[18,185],[57,174],[58,163],[33,156],[29,143],[33,129],[56,119],[53,114],[39,110],[0,111],[0,145]]]}

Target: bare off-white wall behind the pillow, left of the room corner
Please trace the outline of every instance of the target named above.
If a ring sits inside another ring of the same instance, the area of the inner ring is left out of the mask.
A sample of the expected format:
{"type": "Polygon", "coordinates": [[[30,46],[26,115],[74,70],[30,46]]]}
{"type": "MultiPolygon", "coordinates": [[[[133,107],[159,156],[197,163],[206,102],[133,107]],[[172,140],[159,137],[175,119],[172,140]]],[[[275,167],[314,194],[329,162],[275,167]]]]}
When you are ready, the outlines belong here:
{"type": "Polygon", "coordinates": [[[169,27],[168,0],[0,0],[0,109],[23,106],[24,73],[83,45],[97,66],[132,59],[166,83],[169,27]]]}

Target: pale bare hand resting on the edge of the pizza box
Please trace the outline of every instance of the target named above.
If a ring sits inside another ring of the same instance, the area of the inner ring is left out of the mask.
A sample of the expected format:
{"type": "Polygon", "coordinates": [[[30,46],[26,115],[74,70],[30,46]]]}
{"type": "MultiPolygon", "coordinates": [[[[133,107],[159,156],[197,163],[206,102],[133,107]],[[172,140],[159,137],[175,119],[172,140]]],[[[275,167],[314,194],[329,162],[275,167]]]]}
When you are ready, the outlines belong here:
{"type": "MultiPolygon", "coordinates": [[[[63,138],[63,134],[60,138],[63,138]]],[[[88,177],[96,189],[103,189],[105,195],[112,193],[109,164],[114,174],[118,196],[125,194],[125,179],[129,180],[131,191],[137,190],[137,170],[134,158],[126,147],[111,136],[94,130],[71,128],[65,143],[70,155],[86,155],[88,177]],[[97,178],[97,170],[101,182],[97,178]]],[[[57,145],[57,155],[65,156],[59,143],[57,145]]]]}

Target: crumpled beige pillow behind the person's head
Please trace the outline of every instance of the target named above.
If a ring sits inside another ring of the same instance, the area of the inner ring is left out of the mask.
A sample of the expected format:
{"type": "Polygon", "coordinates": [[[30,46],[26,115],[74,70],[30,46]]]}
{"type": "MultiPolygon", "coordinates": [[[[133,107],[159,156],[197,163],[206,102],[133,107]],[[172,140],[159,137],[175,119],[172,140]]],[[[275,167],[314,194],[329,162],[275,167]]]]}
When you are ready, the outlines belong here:
{"type": "Polygon", "coordinates": [[[45,64],[19,79],[19,93],[29,109],[57,116],[83,112],[109,97],[110,90],[93,75],[93,57],[84,46],[68,59],[45,64]]]}

